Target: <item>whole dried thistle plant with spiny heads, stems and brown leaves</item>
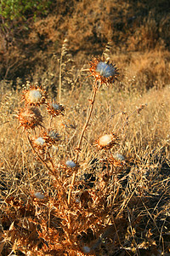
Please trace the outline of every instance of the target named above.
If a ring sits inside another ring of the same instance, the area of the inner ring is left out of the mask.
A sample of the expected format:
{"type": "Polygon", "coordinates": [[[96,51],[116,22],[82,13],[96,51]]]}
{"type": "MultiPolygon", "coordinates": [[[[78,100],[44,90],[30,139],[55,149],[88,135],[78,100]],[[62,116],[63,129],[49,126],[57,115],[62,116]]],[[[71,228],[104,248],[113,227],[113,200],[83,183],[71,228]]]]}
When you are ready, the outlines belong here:
{"type": "MultiPolygon", "coordinates": [[[[121,246],[123,230],[127,227],[127,218],[122,217],[122,212],[131,195],[123,201],[123,178],[119,175],[127,167],[127,160],[121,154],[112,152],[119,146],[118,137],[111,131],[97,140],[94,150],[99,172],[96,168],[95,173],[83,173],[83,165],[94,166],[95,160],[92,164],[88,163],[88,159],[83,163],[80,161],[82,141],[92,119],[96,95],[102,84],[111,87],[118,73],[115,66],[100,58],[90,62],[88,71],[94,79],[87,117],[80,130],[77,148],[67,159],[59,160],[58,154],[53,154],[53,147],[62,144],[62,136],[57,127],[51,125],[51,119],[64,118],[64,108],[59,103],[49,102],[45,90],[34,87],[25,90],[24,107],[19,111],[18,119],[26,131],[36,160],[51,177],[51,190],[55,195],[32,189],[28,197],[11,196],[6,199],[8,216],[12,221],[3,234],[8,253],[99,255],[104,241],[107,245],[109,240],[114,240],[111,247],[113,253],[121,246]],[[44,100],[42,96],[45,96],[44,100]],[[47,124],[49,127],[46,127],[47,124]]],[[[135,112],[140,113],[143,108],[141,105],[135,112]]],[[[5,218],[6,215],[3,221],[5,218]]]]}

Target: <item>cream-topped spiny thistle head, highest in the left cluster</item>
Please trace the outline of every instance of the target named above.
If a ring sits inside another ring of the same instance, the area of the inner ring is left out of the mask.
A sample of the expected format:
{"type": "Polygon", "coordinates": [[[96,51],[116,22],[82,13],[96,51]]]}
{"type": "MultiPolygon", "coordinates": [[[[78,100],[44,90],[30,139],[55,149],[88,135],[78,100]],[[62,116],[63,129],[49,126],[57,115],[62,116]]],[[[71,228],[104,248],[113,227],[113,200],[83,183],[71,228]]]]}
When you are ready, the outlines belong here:
{"type": "Polygon", "coordinates": [[[37,86],[33,86],[30,90],[24,91],[24,100],[26,101],[26,105],[39,106],[45,102],[47,97],[46,91],[42,90],[37,86]]]}

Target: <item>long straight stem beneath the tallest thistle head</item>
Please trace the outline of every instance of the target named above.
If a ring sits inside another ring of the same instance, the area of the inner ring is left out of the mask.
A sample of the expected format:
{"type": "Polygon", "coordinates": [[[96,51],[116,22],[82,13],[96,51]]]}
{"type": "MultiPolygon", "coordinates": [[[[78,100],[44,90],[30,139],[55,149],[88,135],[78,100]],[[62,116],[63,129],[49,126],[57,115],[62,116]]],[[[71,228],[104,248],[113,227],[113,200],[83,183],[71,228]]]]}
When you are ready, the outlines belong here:
{"type": "MultiPolygon", "coordinates": [[[[99,84],[99,87],[100,87],[100,84],[99,84]]],[[[93,112],[93,109],[94,109],[94,101],[95,101],[95,96],[96,96],[97,90],[99,90],[99,88],[97,87],[97,81],[95,81],[93,92],[92,92],[92,98],[90,99],[90,104],[88,106],[88,113],[87,113],[86,122],[85,122],[85,124],[82,128],[82,133],[81,133],[81,136],[79,138],[78,145],[77,145],[76,162],[78,160],[78,156],[79,156],[79,153],[80,153],[80,150],[81,150],[80,147],[81,147],[81,144],[82,144],[82,137],[84,136],[84,133],[85,133],[87,127],[88,127],[89,120],[92,116],[92,112],[93,112]]],[[[72,191],[73,185],[75,183],[75,178],[76,178],[76,171],[73,172],[73,175],[72,175],[71,186],[70,186],[69,195],[68,195],[68,205],[71,204],[71,191],[72,191]]]]}

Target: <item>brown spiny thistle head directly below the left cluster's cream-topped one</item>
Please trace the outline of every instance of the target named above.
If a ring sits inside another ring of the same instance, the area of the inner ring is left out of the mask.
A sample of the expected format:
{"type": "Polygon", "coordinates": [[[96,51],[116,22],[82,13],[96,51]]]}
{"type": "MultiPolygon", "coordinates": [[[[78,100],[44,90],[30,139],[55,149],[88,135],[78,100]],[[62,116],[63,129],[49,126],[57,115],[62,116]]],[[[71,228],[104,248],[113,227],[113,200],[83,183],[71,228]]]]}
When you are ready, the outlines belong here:
{"type": "Polygon", "coordinates": [[[18,113],[18,119],[20,126],[24,126],[25,129],[42,126],[42,114],[35,107],[22,108],[18,113]]]}

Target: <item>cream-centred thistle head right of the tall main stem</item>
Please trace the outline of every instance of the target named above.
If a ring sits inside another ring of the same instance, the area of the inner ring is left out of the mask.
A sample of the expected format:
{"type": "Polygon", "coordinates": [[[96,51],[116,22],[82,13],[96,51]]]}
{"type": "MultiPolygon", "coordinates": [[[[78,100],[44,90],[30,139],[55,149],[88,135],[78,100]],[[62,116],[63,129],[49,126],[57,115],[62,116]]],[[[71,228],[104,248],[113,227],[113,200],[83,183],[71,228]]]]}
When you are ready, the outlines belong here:
{"type": "Polygon", "coordinates": [[[98,139],[99,149],[109,149],[116,144],[116,136],[114,134],[105,134],[98,139]]]}

